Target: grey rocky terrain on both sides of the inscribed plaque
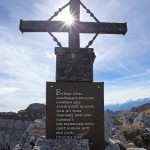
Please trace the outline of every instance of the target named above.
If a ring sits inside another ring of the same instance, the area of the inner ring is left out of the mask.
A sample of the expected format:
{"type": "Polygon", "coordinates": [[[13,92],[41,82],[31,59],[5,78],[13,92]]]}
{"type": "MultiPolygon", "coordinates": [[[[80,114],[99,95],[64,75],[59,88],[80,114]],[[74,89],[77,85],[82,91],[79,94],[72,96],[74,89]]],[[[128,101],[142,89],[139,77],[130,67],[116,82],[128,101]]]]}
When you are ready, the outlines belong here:
{"type": "MultiPolygon", "coordinates": [[[[105,150],[150,150],[150,108],[105,112],[105,150]]],[[[0,113],[0,150],[42,150],[45,105],[31,104],[18,113],[0,113]],[[40,140],[40,142],[39,142],[40,140]]],[[[46,146],[44,147],[46,149],[46,146]]]]}

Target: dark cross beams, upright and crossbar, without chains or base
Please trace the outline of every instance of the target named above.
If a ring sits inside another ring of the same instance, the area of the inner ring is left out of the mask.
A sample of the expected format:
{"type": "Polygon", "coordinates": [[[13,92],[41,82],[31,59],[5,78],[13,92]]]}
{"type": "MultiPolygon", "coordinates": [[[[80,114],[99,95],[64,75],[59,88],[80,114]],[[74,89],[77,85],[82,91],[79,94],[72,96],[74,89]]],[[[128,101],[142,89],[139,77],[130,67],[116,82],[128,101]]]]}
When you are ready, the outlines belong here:
{"type": "Polygon", "coordinates": [[[81,22],[80,0],[70,0],[70,14],[74,18],[72,25],[63,21],[23,21],[21,32],[69,32],[70,50],[80,49],[80,33],[123,34],[127,32],[126,23],[81,22]]]}

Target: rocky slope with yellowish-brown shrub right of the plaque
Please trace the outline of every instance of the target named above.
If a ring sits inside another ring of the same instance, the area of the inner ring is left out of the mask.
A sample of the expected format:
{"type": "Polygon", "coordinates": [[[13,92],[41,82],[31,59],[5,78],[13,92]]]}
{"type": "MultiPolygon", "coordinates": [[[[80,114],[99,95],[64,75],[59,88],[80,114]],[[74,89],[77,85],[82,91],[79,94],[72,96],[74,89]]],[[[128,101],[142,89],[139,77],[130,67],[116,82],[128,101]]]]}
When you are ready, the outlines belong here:
{"type": "Polygon", "coordinates": [[[112,118],[111,139],[119,140],[126,148],[150,150],[150,104],[134,107],[112,118]]]}

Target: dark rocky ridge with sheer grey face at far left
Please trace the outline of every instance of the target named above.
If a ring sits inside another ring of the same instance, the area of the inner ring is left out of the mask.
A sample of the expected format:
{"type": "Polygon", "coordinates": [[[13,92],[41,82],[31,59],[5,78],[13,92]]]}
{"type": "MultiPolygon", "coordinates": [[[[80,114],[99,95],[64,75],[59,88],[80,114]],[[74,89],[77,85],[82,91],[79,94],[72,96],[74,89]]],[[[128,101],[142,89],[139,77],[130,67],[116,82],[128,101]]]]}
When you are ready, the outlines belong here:
{"type": "Polygon", "coordinates": [[[12,150],[28,126],[45,116],[44,104],[31,104],[18,113],[0,113],[0,150],[12,150]]]}

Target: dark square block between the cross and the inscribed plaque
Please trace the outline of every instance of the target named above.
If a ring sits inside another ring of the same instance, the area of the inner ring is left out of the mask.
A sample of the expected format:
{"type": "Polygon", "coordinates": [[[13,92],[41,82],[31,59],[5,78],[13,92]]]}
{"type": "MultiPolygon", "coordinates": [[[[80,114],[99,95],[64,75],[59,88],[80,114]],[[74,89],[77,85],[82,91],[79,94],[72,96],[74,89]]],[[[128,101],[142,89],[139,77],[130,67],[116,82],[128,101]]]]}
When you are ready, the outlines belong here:
{"type": "Polygon", "coordinates": [[[95,53],[92,48],[55,48],[56,81],[93,81],[95,53]]]}

